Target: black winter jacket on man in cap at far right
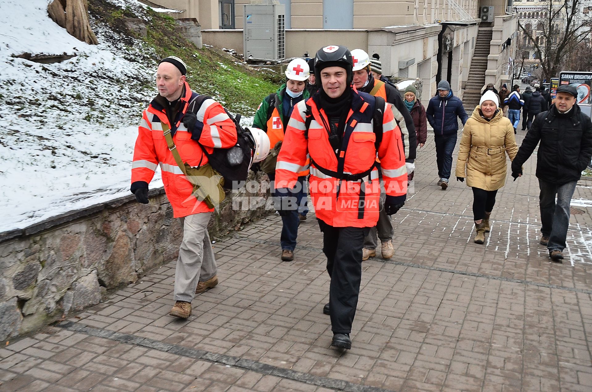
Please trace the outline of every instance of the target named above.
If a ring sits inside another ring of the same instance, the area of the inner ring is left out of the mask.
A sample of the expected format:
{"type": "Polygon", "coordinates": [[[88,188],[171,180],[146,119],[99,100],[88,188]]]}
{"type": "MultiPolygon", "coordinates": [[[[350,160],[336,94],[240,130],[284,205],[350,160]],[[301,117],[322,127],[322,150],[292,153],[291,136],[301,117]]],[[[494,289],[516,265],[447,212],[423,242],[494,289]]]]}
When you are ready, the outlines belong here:
{"type": "Polygon", "coordinates": [[[555,105],[538,114],[512,161],[513,173],[522,173],[539,141],[536,176],[558,185],[577,181],[592,157],[592,123],[577,104],[567,114],[555,105]]]}

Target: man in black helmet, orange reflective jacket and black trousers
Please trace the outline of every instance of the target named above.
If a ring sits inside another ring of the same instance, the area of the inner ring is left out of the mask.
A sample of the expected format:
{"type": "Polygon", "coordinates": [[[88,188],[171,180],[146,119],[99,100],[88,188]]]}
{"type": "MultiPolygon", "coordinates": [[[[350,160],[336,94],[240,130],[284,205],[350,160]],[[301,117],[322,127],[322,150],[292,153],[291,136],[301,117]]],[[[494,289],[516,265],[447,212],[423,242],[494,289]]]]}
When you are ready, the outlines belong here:
{"type": "Polygon", "coordinates": [[[278,155],[276,208],[280,213],[295,208],[288,192],[310,155],[310,193],[331,277],[329,304],[323,311],[331,316],[332,346],[349,349],[362,277],[363,239],[378,220],[377,153],[389,215],[405,203],[407,169],[390,104],[380,100],[377,107],[377,98],[351,85],[348,48],[330,45],[318,50],[314,72],[320,89],[292,111],[278,155]],[[375,121],[381,124],[375,127],[375,121]]]}

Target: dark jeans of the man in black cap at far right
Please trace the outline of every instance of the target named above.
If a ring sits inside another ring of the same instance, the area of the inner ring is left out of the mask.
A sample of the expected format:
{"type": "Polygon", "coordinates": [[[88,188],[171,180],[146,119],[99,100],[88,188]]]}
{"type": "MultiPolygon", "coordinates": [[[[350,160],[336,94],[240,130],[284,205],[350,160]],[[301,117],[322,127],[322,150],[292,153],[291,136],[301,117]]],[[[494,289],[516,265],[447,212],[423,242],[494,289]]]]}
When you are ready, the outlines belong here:
{"type": "Polygon", "coordinates": [[[547,182],[539,179],[539,204],[540,221],[542,227],[540,232],[544,237],[549,237],[547,249],[565,249],[567,229],[570,226],[570,203],[574,195],[575,184],[571,181],[567,184],[557,185],[554,182],[547,182]],[[557,203],[555,203],[555,195],[557,203]]]}

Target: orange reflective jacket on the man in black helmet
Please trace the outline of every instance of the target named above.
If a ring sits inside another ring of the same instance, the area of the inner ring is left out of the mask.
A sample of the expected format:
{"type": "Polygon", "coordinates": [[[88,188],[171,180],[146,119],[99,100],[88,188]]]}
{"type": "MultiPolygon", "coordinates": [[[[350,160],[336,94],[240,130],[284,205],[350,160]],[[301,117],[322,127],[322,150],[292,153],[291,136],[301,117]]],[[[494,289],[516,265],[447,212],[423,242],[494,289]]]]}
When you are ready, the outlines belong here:
{"type": "MultiPolygon", "coordinates": [[[[329,119],[317,102],[309,98],[295,105],[278,155],[275,187],[292,188],[298,172],[310,154],[310,193],[318,219],[335,227],[373,227],[378,221],[380,187],[373,120],[375,98],[353,92],[352,107],[343,134],[345,149],[339,156],[329,142],[329,119]],[[306,129],[307,104],[313,118],[306,129]],[[334,175],[339,174],[341,180],[334,175]],[[356,179],[360,173],[368,173],[356,179]],[[352,180],[353,179],[353,180],[352,180]]],[[[382,118],[382,139],[378,147],[382,177],[388,195],[407,193],[407,169],[401,132],[394,120],[390,104],[385,104],[382,118]]]]}

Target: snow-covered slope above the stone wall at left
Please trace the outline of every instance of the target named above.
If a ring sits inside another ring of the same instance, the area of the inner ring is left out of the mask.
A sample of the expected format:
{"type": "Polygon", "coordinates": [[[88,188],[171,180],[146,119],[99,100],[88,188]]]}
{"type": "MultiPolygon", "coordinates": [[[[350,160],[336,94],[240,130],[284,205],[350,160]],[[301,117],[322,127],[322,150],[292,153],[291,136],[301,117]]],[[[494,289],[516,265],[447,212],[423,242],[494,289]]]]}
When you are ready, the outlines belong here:
{"type": "Polygon", "coordinates": [[[97,21],[99,45],[78,41],[49,18],[49,1],[0,0],[0,232],[128,194],[137,123],[155,94],[156,55],[141,41],[124,44],[97,21]],[[40,64],[22,53],[76,56],[40,64]]]}

